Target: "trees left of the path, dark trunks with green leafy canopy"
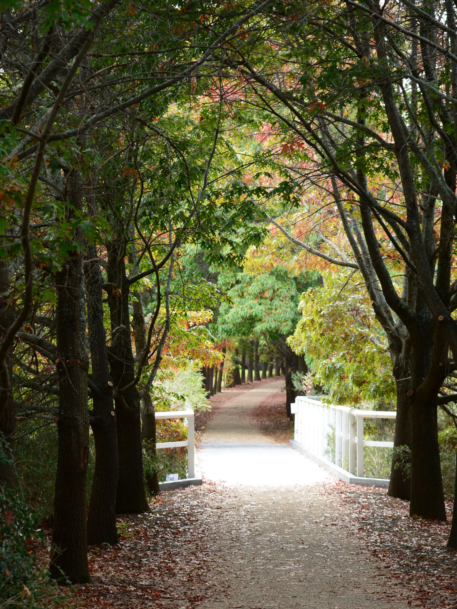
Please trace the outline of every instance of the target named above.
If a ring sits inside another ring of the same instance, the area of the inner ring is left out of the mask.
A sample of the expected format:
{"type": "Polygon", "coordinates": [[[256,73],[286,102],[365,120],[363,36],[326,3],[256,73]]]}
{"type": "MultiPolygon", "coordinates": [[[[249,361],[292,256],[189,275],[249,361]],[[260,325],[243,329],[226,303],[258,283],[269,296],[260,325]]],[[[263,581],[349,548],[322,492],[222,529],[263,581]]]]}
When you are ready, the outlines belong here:
{"type": "MultiPolygon", "coordinates": [[[[57,424],[55,579],[89,581],[87,544],[116,543],[116,513],[149,509],[142,436],[154,445],[152,385],[171,345],[200,365],[220,359],[195,314],[213,295],[191,251],[236,259],[261,230],[253,203],[238,205],[220,79],[193,104],[194,75],[258,11],[200,19],[113,1],[2,13],[0,423],[12,453],[16,416],[57,424]]],[[[12,460],[1,467],[13,486],[12,460]]]]}

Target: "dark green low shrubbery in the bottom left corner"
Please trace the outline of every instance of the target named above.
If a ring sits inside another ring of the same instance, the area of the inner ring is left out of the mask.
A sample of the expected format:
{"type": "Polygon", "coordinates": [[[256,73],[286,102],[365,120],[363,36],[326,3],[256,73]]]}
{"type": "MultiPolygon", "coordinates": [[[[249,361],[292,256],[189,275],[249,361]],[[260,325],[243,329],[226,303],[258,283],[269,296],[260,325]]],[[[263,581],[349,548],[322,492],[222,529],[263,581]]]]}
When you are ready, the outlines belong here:
{"type": "MultiPolygon", "coordinates": [[[[12,464],[0,438],[0,464],[12,464]]],[[[0,605],[19,607],[62,607],[68,592],[51,582],[46,569],[29,550],[29,543],[40,544],[44,537],[35,529],[19,479],[16,488],[0,485],[0,605]]]]}

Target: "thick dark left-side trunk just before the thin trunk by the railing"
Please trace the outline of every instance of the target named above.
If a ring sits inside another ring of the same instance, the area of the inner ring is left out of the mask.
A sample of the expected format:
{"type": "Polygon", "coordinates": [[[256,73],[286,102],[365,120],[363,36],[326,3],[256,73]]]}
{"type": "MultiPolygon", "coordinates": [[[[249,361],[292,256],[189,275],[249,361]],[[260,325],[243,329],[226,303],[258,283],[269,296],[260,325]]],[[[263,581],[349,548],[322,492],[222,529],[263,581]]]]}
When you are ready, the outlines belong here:
{"type": "Polygon", "coordinates": [[[108,358],[115,383],[118,424],[119,476],[116,513],[141,513],[149,510],[144,488],[143,451],[141,446],[141,401],[136,387],[122,392],[135,379],[135,361],[130,336],[129,294],[124,256],[119,240],[108,244],[108,281],[116,286],[108,290],[112,341],[108,358]],[[118,284],[118,281],[120,285],[118,284]]]}

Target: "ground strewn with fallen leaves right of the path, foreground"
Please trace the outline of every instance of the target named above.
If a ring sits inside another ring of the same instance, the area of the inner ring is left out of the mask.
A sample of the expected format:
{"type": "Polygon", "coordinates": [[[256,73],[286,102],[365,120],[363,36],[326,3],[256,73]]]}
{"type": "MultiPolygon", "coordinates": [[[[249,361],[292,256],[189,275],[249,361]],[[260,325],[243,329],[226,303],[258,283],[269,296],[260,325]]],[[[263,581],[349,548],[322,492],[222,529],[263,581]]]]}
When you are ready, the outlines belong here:
{"type": "Polygon", "coordinates": [[[339,496],[345,526],[390,573],[392,590],[411,607],[457,607],[457,552],[446,543],[448,522],[409,517],[409,502],[381,488],[329,485],[325,495],[339,496]]]}

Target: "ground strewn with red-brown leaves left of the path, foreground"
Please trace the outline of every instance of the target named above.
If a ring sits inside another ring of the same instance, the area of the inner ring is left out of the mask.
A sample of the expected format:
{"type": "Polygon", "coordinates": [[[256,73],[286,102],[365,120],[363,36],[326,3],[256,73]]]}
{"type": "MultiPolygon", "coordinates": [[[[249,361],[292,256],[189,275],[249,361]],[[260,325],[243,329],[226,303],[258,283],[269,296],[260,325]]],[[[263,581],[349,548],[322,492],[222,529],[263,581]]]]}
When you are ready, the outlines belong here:
{"type": "MultiPolygon", "coordinates": [[[[197,607],[216,590],[208,543],[216,509],[199,499],[200,488],[164,493],[151,512],[118,519],[115,547],[91,547],[91,583],[76,586],[77,607],[143,609],[197,607]],[[197,491],[197,492],[195,492],[197,491]]],[[[205,493],[218,495],[210,484],[205,493]]],[[[219,504],[215,499],[216,505],[219,504]]]]}

